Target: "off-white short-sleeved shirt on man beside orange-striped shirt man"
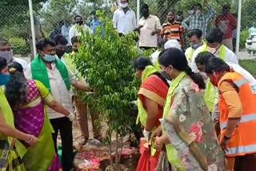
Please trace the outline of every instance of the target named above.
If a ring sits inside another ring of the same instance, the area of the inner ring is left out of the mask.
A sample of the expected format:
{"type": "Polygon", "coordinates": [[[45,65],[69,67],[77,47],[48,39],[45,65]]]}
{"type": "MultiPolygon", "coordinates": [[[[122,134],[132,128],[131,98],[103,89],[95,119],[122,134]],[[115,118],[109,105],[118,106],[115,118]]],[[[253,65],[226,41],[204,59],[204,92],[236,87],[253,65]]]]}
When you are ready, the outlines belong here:
{"type": "Polygon", "coordinates": [[[148,18],[142,17],[138,22],[138,27],[143,26],[139,34],[138,46],[140,47],[157,47],[158,34],[151,35],[155,30],[162,30],[160,20],[157,16],[150,15],[148,18]]]}

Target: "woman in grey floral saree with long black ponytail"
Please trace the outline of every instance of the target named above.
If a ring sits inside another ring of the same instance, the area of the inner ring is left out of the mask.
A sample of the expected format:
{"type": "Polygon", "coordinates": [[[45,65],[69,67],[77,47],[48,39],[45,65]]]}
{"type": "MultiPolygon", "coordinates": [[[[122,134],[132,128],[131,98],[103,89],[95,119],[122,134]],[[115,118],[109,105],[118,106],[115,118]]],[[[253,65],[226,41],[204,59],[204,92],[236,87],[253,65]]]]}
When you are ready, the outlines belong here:
{"type": "Polygon", "coordinates": [[[164,50],[158,61],[162,73],[172,82],[161,119],[163,133],[156,137],[155,147],[161,150],[163,145],[172,145],[171,152],[166,150],[168,157],[178,158],[178,170],[226,170],[224,153],[204,101],[202,89],[206,85],[202,76],[192,72],[180,50],[164,50]]]}

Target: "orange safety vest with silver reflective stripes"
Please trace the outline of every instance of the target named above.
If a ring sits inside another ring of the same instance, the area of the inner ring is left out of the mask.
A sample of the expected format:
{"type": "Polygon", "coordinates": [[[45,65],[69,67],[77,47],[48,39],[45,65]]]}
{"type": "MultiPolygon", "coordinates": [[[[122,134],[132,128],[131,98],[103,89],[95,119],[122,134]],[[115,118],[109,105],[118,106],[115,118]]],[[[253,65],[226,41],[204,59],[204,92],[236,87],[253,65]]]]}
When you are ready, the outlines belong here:
{"type": "MultiPolygon", "coordinates": [[[[242,103],[240,122],[234,129],[230,141],[227,141],[226,157],[256,153],[256,136],[254,134],[256,130],[256,84],[250,84],[241,74],[229,72],[218,82],[218,88],[225,80],[231,80],[238,86],[238,95],[242,103]]],[[[229,110],[221,93],[219,93],[218,107],[222,140],[226,131],[229,110]]]]}

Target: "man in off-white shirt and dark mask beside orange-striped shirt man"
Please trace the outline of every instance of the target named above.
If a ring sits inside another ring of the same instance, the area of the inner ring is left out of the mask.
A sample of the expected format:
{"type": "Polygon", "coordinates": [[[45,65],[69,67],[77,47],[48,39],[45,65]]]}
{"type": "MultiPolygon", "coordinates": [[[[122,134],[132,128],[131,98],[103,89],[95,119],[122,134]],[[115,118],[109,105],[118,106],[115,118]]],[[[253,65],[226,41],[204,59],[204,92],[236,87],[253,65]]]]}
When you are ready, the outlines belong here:
{"type": "Polygon", "coordinates": [[[162,30],[160,20],[157,16],[151,15],[149,6],[143,4],[141,8],[142,18],[138,22],[139,42],[141,49],[148,50],[158,47],[158,34],[162,30]]]}

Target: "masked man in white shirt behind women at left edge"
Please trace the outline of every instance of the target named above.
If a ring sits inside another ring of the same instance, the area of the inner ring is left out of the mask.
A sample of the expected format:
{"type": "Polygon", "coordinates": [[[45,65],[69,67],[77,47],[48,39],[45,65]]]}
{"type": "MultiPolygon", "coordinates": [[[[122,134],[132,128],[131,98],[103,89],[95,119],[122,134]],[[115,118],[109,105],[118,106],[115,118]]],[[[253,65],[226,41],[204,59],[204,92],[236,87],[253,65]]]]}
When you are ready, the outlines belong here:
{"type": "Polygon", "coordinates": [[[21,58],[14,58],[14,52],[11,49],[10,43],[6,40],[0,40],[0,57],[6,58],[7,64],[18,62],[22,65],[23,70],[26,70],[27,62],[21,58]]]}

